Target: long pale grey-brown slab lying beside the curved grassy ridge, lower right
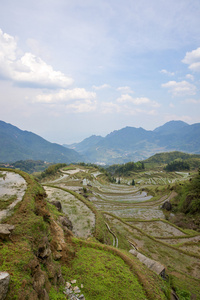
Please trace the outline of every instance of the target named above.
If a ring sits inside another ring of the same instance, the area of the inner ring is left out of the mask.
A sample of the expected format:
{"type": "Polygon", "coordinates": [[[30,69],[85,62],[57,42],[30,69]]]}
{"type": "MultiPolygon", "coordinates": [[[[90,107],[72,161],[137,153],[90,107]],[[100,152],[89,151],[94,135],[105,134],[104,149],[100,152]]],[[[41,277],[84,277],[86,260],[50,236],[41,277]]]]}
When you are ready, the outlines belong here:
{"type": "Polygon", "coordinates": [[[165,278],[165,267],[160,264],[159,262],[150,259],[146,257],[145,255],[139,253],[136,250],[130,250],[131,254],[136,256],[143,264],[145,264],[150,270],[156,272],[158,275],[160,275],[162,278],[165,278]]]}

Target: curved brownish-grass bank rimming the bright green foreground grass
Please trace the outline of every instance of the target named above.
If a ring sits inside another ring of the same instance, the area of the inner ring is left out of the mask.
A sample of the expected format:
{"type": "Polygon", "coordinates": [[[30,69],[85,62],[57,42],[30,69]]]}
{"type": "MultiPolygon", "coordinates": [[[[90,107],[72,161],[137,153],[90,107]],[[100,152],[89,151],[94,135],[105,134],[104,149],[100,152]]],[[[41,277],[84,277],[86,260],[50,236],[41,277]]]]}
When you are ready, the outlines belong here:
{"type": "Polygon", "coordinates": [[[157,282],[160,281],[160,283],[162,283],[162,279],[159,278],[157,274],[154,274],[154,272],[151,272],[150,270],[148,270],[148,274],[151,275],[147,276],[144,271],[146,270],[145,266],[142,263],[140,263],[138,260],[134,259],[134,257],[131,259],[128,255],[126,255],[119,249],[105,244],[88,242],[76,238],[73,238],[73,241],[84,247],[90,247],[98,250],[108,251],[114,255],[119,256],[130,267],[131,271],[137,276],[138,281],[143,286],[144,291],[146,292],[147,299],[149,300],[166,299],[166,296],[164,295],[164,293],[161,292],[161,289],[156,290],[155,288],[155,280],[157,280],[157,282]]]}

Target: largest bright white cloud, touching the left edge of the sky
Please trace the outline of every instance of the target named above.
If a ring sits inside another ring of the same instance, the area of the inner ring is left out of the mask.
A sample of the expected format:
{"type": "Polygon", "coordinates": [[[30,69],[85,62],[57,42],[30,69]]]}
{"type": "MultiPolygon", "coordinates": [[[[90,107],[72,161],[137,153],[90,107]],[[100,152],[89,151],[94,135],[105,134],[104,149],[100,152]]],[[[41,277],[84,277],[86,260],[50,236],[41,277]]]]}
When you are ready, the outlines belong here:
{"type": "Polygon", "coordinates": [[[52,66],[32,53],[19,57],[16,39],[0,29],[0,74],[22,86],[66,88],[73,79],[60,71],[54,71],[52,66]]]}

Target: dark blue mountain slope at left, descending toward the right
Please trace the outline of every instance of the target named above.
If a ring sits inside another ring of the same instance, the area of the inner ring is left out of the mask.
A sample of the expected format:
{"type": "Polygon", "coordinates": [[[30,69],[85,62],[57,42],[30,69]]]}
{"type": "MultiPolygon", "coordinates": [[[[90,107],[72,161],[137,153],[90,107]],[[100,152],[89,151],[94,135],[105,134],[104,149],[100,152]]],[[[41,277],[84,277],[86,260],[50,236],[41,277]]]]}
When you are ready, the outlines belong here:
{"type": "Polygon", "coordinates": [[[72,149],[50,143],[32,132],[0,121],[0,162],[28,159],[56,163],[83,161],[81,155],[72,149]]]}

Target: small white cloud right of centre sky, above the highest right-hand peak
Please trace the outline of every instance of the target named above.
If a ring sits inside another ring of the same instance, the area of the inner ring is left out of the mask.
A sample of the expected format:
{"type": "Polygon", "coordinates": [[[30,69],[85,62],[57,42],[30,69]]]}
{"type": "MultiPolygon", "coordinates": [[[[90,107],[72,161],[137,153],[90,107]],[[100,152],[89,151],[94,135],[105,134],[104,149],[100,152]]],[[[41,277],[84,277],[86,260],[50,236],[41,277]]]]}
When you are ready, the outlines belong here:
{"type": "Polygon", "coordinates": [[[169,81],[161,85],[164,88],[169,89],[169,92],[173,96],[188,96],[196,94],[196,86],[187,81],[169,81]]]}

